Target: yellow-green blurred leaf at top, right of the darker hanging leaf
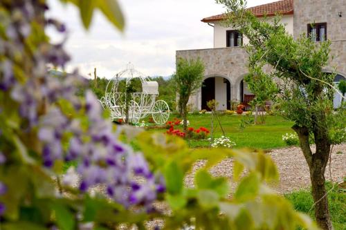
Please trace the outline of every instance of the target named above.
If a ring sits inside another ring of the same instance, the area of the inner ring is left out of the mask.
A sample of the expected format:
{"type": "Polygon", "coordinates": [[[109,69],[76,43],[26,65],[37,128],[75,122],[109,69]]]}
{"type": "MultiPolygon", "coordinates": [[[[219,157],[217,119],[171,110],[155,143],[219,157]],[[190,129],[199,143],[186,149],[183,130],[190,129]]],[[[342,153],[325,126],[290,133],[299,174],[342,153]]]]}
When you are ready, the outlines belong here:
{"type": "Polygon", "coordinates": [[[120,10],[118,1],[116,0],[98,0],[95,1],[98,8],[103,12],[104,16],[113,23],[119,30],[124,30],[125,19],[120,10]]]}

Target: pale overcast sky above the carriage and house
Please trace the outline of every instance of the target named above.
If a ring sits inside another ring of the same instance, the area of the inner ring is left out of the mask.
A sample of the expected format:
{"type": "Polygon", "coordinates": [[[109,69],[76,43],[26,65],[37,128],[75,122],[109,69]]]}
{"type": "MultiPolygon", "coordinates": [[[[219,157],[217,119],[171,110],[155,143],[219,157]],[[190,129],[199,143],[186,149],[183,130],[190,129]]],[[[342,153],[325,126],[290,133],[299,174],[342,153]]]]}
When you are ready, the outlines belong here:
{"type": "MultiPolygon", "coordinates": [[[[257,6],[277,0],[248,0],[257,6]]],[[[96,12],[89,30],[84,30],[78,9],[48,0],[48,17],[66,23],[66,50],[85,77],[97,69],[99,77],[111,78],[131,61],[136,70],[149,76],[170,76],[175,70],[176,50],[212,48],[212,27],[204,17],[224,12],[215,0],[118,0],[125,15],[125,31],[119,32],[96,12]]],[[[64,37],[47,30],[53,43],[64,37]]]]}

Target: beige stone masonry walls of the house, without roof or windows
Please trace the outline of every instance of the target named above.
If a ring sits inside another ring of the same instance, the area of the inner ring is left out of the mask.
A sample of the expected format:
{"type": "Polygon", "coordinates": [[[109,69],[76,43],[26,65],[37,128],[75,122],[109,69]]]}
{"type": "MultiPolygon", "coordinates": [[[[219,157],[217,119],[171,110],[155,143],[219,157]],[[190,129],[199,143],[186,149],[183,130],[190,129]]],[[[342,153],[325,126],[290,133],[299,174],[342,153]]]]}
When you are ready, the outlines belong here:
{"type": "MultiPolygon", "coordinates": [[[[310,23],[327,23],[327,39],[331,41],[331,60],[326,72],[346,77],[346,2],[345,0],[294,0],[293,37],[307,36],[310,23]],[[340,17],[341,15],[341,17],[340,17]]],[[[224,38],[226,39],[226,37],[224,38]]],[[[176,59],[201,58],[206,77],[224,77],[231,85],[231,100],[239,100],[239,83],[248,73],[248,55],[244,48],[211,48],[176,51],[176,59]]],[[[217,89],[216,89],[217,90],[217,89]]],[[[190,98],[194,109],[201,109],[201,90],[190,98]]]]}

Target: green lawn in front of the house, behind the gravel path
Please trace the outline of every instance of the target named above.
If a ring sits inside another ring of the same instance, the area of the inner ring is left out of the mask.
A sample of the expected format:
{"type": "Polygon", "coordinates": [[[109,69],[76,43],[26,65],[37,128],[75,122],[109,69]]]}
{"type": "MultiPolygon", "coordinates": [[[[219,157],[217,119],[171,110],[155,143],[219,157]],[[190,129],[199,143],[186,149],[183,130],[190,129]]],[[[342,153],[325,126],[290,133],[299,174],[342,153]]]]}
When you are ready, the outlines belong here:
{"type": "MultiPolygon", "coordinates": [[[[282,141],[282,135],[293,132],[292,122],[286,121],[282,117],[268,115],[266,124],[250,125],[242,131],[239,129],[239,124],[245,116],[239,115],[219,115],[221,125],[224,128],[227,137],[235,141],[237,148],[261,148],[272,149],[286,146],[282,141]]],[[[174,115],[170,117],[172,120],[174,115]]],[[[188,116],[190,127],[199,128],[201,126],[208,129],[211,128],[210,114],[190,114],[188,116]]],[[[215,137],[221,137],[222,132],[217,120],[215,120],[215,137]]],[[[181,128],[180,128],[181,129],[181,128]]],[[[165,132],[165,129],[156,129],[158,132],[165,132]]],[[[206,147],[209,142],[206,140],[190,140],[190,147],[206,147]]]]}

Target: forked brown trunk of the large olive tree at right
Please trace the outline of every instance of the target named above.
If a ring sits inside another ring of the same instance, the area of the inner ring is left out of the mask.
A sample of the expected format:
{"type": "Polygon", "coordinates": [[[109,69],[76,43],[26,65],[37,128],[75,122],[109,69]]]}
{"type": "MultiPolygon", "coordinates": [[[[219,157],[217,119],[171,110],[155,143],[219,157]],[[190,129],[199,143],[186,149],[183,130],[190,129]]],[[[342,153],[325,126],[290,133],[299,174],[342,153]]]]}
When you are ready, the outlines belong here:
{"type": "Polygon", "coordinates": [[[316,142],[316,153],[311,152],[309,145],[309,129],[305,126],[293,126],[293,130],[298,134],[300,148],[309,166],[311,191],[315,206],[315,218],[318,225],[324,230],[332,230],[328,197],[325,188],[325,169],[327,167],[330,143],[325,128],[316,126],[313,132],[316,142]]]}

